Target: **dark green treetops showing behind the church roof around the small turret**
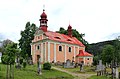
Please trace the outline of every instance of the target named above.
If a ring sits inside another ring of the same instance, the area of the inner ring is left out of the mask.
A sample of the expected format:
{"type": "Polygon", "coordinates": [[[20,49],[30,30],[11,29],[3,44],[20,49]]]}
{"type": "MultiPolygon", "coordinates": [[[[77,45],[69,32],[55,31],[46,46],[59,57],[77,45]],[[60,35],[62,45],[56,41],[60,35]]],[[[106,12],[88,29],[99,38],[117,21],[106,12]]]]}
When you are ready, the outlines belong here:
{"type": "MultiPolygon", "coordinates": [[[[63,27],[60,27],[59,31],[57,31],[58,33],[61,34],[68,34],[68,31],[65,30],[63,27]]],[[[85,36],[85,34],[80,34],[76,29],[72,29],[72,36],[76,37],[79,41],[81,41],[84,45],[88,45],[88,42],[83,38],[85,36]]]]}

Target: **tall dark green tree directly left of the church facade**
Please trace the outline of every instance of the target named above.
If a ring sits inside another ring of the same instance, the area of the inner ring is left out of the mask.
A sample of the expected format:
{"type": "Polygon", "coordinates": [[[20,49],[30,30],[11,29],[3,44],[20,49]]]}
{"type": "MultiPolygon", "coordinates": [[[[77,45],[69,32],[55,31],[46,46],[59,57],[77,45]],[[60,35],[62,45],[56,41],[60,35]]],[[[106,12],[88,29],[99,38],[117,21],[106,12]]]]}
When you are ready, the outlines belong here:
{"type": "Polygon", "coordinates": [[[19,48],[21,49],[21,56],[23,58],[31,56],[31,46],[32,40],[34,39],[34,34],[37,30],[35,24],[26,23],[25,30],[21,31],[21,38],[19,40],[19,48]]]}

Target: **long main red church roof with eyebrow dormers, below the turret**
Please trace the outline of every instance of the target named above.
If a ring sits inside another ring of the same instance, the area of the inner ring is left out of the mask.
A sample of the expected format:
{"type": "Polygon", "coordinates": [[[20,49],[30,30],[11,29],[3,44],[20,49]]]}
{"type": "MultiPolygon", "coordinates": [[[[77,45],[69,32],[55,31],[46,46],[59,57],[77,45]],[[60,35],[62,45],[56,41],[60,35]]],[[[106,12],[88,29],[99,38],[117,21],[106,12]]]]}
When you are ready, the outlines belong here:
{"type": "Polygon", "coordinates": [[[54,41],[59,41],[59,42],[66,42],[70,44],[77,44],[79,46],[84,46],[82,42],[80,42],[77,38],[75,37],[69,37],[68,35],[56,33],[56,32],[51,32],[47,31],[45,32],[45,35],[48,36],[48,39],[54,40],[54,41]]]}

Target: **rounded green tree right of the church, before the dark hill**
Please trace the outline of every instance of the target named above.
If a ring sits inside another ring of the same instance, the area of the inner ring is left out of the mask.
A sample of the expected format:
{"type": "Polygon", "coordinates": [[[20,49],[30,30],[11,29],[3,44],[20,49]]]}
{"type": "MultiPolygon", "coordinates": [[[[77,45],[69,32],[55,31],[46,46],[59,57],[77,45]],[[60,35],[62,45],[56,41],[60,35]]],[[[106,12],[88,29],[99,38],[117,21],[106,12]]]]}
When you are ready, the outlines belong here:
{"type": "Polygon", "coordinates": [[[102,54],[101,54],[101,58],[103,60],[103,63],[108,63],[110,64],[112,60],[114,60],[115,58],[115,48],[112,45],[106,45],[103,48],[102,54]]]}

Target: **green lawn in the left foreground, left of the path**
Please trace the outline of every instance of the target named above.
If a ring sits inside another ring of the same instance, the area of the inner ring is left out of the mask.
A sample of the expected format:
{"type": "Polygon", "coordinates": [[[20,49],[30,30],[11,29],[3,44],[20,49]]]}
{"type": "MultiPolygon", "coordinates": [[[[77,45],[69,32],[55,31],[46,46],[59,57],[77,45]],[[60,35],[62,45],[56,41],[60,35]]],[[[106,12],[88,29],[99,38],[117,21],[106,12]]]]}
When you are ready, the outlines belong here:
{"type": "MultiPolygon", "coordinates": [[[[37,66],[27,66],[25,69],[14,68],[14,79],[73,79],[73,76],[54,69],[42,70],[42,75],[37,74],[37,66]]],[[[0,79],[6,77],[6,65],[0,64],[0,79]]]]}

